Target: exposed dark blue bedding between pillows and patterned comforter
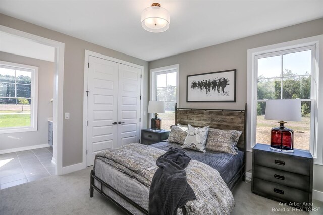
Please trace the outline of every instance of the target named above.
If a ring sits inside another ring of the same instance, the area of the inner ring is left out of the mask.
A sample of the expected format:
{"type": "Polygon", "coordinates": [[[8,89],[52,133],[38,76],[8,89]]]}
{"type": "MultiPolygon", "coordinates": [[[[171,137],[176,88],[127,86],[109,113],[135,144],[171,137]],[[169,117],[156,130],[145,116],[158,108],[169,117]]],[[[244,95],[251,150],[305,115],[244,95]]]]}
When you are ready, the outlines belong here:
{"type": "MultiPolygon", "coordinates": [[[[167,151],[170,147],[181,148],[181,144],[172,142],[159,142],[149,146],[159,148],[164,151],[167,151]]],[[[191,159],[198,160],[199,162],[203,162],[204,164],[216,169],[227,185],[229,185],[243,164],[244,153],[242,151],[238,151],[237,155],[232,155],[210,150],[206,150],[205,153],[186,148],[183,150],[191,159]]]]}

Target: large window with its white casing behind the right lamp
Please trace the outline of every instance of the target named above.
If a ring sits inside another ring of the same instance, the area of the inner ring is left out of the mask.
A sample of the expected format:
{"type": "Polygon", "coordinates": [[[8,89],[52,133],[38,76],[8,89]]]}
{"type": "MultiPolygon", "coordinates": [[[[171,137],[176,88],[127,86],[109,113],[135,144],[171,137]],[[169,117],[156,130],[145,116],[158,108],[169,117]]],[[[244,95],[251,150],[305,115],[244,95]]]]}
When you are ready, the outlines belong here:
{"type": "MultiPolygon", "coordinates": [[[[287,122],[294,130],[294,148],[317,149],[318,42],[305,39],[248,50],[248,132],[251,149],[270,144],[275,120],[265,120],[268,99],[300,99],[302,121],[287,122]]],[[[283,119],[282,119],[283,120],[283,119]]]]}

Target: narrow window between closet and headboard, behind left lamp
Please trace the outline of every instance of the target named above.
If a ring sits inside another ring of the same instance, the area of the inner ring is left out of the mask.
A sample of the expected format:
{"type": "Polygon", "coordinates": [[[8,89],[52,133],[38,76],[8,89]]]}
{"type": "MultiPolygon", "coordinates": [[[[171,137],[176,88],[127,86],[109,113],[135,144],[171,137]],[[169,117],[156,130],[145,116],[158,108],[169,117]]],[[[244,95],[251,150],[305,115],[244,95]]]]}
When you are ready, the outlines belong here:
{"type": "Polygon", "coordinates": [[[161,129],[170,130],[175,123],[175,104],[178,103],[179,65],[153,69],[151,100],[165,101],[165,113],[159,114],[161,129]]]}

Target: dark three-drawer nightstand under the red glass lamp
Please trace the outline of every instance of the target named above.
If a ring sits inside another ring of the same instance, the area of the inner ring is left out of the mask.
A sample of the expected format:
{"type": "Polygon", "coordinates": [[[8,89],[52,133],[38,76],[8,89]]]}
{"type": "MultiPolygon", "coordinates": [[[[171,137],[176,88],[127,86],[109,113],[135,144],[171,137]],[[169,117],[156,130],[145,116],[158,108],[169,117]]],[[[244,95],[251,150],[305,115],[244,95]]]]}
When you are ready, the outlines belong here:
{"type": "Polygon", "coordinates": [[[274,151],[256,144],[252,150],[251,191],[294,207],[311,207],[313,157],[309,151],[274,151]]]}

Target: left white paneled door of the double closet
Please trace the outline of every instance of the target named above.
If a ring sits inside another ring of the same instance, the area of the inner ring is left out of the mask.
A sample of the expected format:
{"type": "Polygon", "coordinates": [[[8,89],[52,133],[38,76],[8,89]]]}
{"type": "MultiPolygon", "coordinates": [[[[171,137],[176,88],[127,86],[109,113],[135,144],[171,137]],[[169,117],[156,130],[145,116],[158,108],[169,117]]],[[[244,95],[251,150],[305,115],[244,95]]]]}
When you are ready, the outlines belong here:
{"type": "Polygon", "coordinates": [[[95,154],[117,147],[119,64],[89,56],[87,100],[87,166],[95,154]]]}

